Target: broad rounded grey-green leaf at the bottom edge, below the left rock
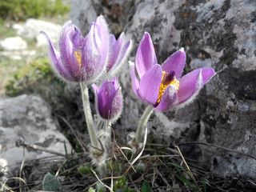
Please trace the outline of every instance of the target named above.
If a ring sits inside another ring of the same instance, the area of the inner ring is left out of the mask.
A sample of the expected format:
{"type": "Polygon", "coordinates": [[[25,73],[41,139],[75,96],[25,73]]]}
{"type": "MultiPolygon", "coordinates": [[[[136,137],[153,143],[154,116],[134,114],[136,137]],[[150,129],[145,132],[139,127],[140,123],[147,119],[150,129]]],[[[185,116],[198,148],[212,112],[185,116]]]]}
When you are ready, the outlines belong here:
{"type": "Polygon", "coordinates": [[[54,175],[48,173],[42,180],[42,190],[55,191],[61,186],[61,183],[58,181],[58,178],[55,178],[54,175]]]}

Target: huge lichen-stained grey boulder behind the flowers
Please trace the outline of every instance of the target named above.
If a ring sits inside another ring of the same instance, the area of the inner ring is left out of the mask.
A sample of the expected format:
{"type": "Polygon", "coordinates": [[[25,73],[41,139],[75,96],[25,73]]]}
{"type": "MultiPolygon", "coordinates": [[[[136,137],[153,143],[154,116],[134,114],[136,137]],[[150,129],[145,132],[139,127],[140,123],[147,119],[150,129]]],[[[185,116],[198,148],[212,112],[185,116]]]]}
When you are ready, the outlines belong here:
{"type": "MultiPolygon", "coordinates": [[[[119,34],[122,29],[133,39],[131,56],[136,54],[138,43],[147,31],[154,42],[158,63],[184,47],[187,57],[184,74],[205,66],[217,71],[193,104],[153,115],[154,120],[148,123],[148,127],[153,128],[151,133],[164,138],[167,144],[208,142],[256,156],[256,2],[93,2],[73,1],[71,13],[75,12],[75,16],[70,14],[70,17],[83,34],[96,15],[103,14],[112,33],[119,34]],[[82,3],[84,6],[76,6],[82,3]],[[90,20],[86,15],[90,15],[90,20]]],[[[138,122],[145,106],[131,91],[128,64],[118,76],[125,99],[119,130],[121,127],[126,131],[135,130],[134,122],[138,122]]],[[[115,130],[119,131],[118,125],[115,130]]],[[[122,132],[122,135],[125,134],[122,132]]],[[[256,177],[253,159],[208,146],[183,146],[181,149],[186,157],[198,160],[218,174],[256,177]],[[250,171],[246,171],[248,167],[250,171]]]]}

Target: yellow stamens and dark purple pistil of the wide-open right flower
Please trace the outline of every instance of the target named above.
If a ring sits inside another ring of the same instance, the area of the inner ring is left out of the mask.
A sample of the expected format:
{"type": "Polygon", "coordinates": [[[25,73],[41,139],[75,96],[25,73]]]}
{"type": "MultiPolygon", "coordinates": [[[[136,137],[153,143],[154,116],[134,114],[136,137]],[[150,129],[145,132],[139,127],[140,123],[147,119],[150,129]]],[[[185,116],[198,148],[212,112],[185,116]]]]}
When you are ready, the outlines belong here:
{"type": "Polygon", "coordinates": [[[177,80],[174,74],[174,72],[167,73],[166,71],[162,71],[162,81],[161,86],[159,88],[158,100],[156,102],[156,105],[158,105],[161,102],[162,94],[166,91],[167,86],[173,86],[177,92],[179,87],[179,81],[177,80]]]}

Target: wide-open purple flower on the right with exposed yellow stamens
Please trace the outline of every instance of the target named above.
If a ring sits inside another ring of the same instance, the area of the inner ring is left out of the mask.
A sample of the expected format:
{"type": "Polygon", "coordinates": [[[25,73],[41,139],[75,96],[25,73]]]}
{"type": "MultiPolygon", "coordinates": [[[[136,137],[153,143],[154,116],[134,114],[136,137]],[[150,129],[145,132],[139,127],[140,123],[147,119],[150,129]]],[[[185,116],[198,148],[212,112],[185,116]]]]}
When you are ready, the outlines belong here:
{"type": "Polygon", "coordinates": [[[142,101],[154,106],[154,110],[166,111],[174,106],[185,106],[192,102],[202,86],[215,74],[211,68],[200,68],[181,78],[186,62],[183,49],[172,54],[162,66],[154,52],[150,34],[145,33],[136,54],[136,69],[131,66],[134,93],[142,101]]]}

